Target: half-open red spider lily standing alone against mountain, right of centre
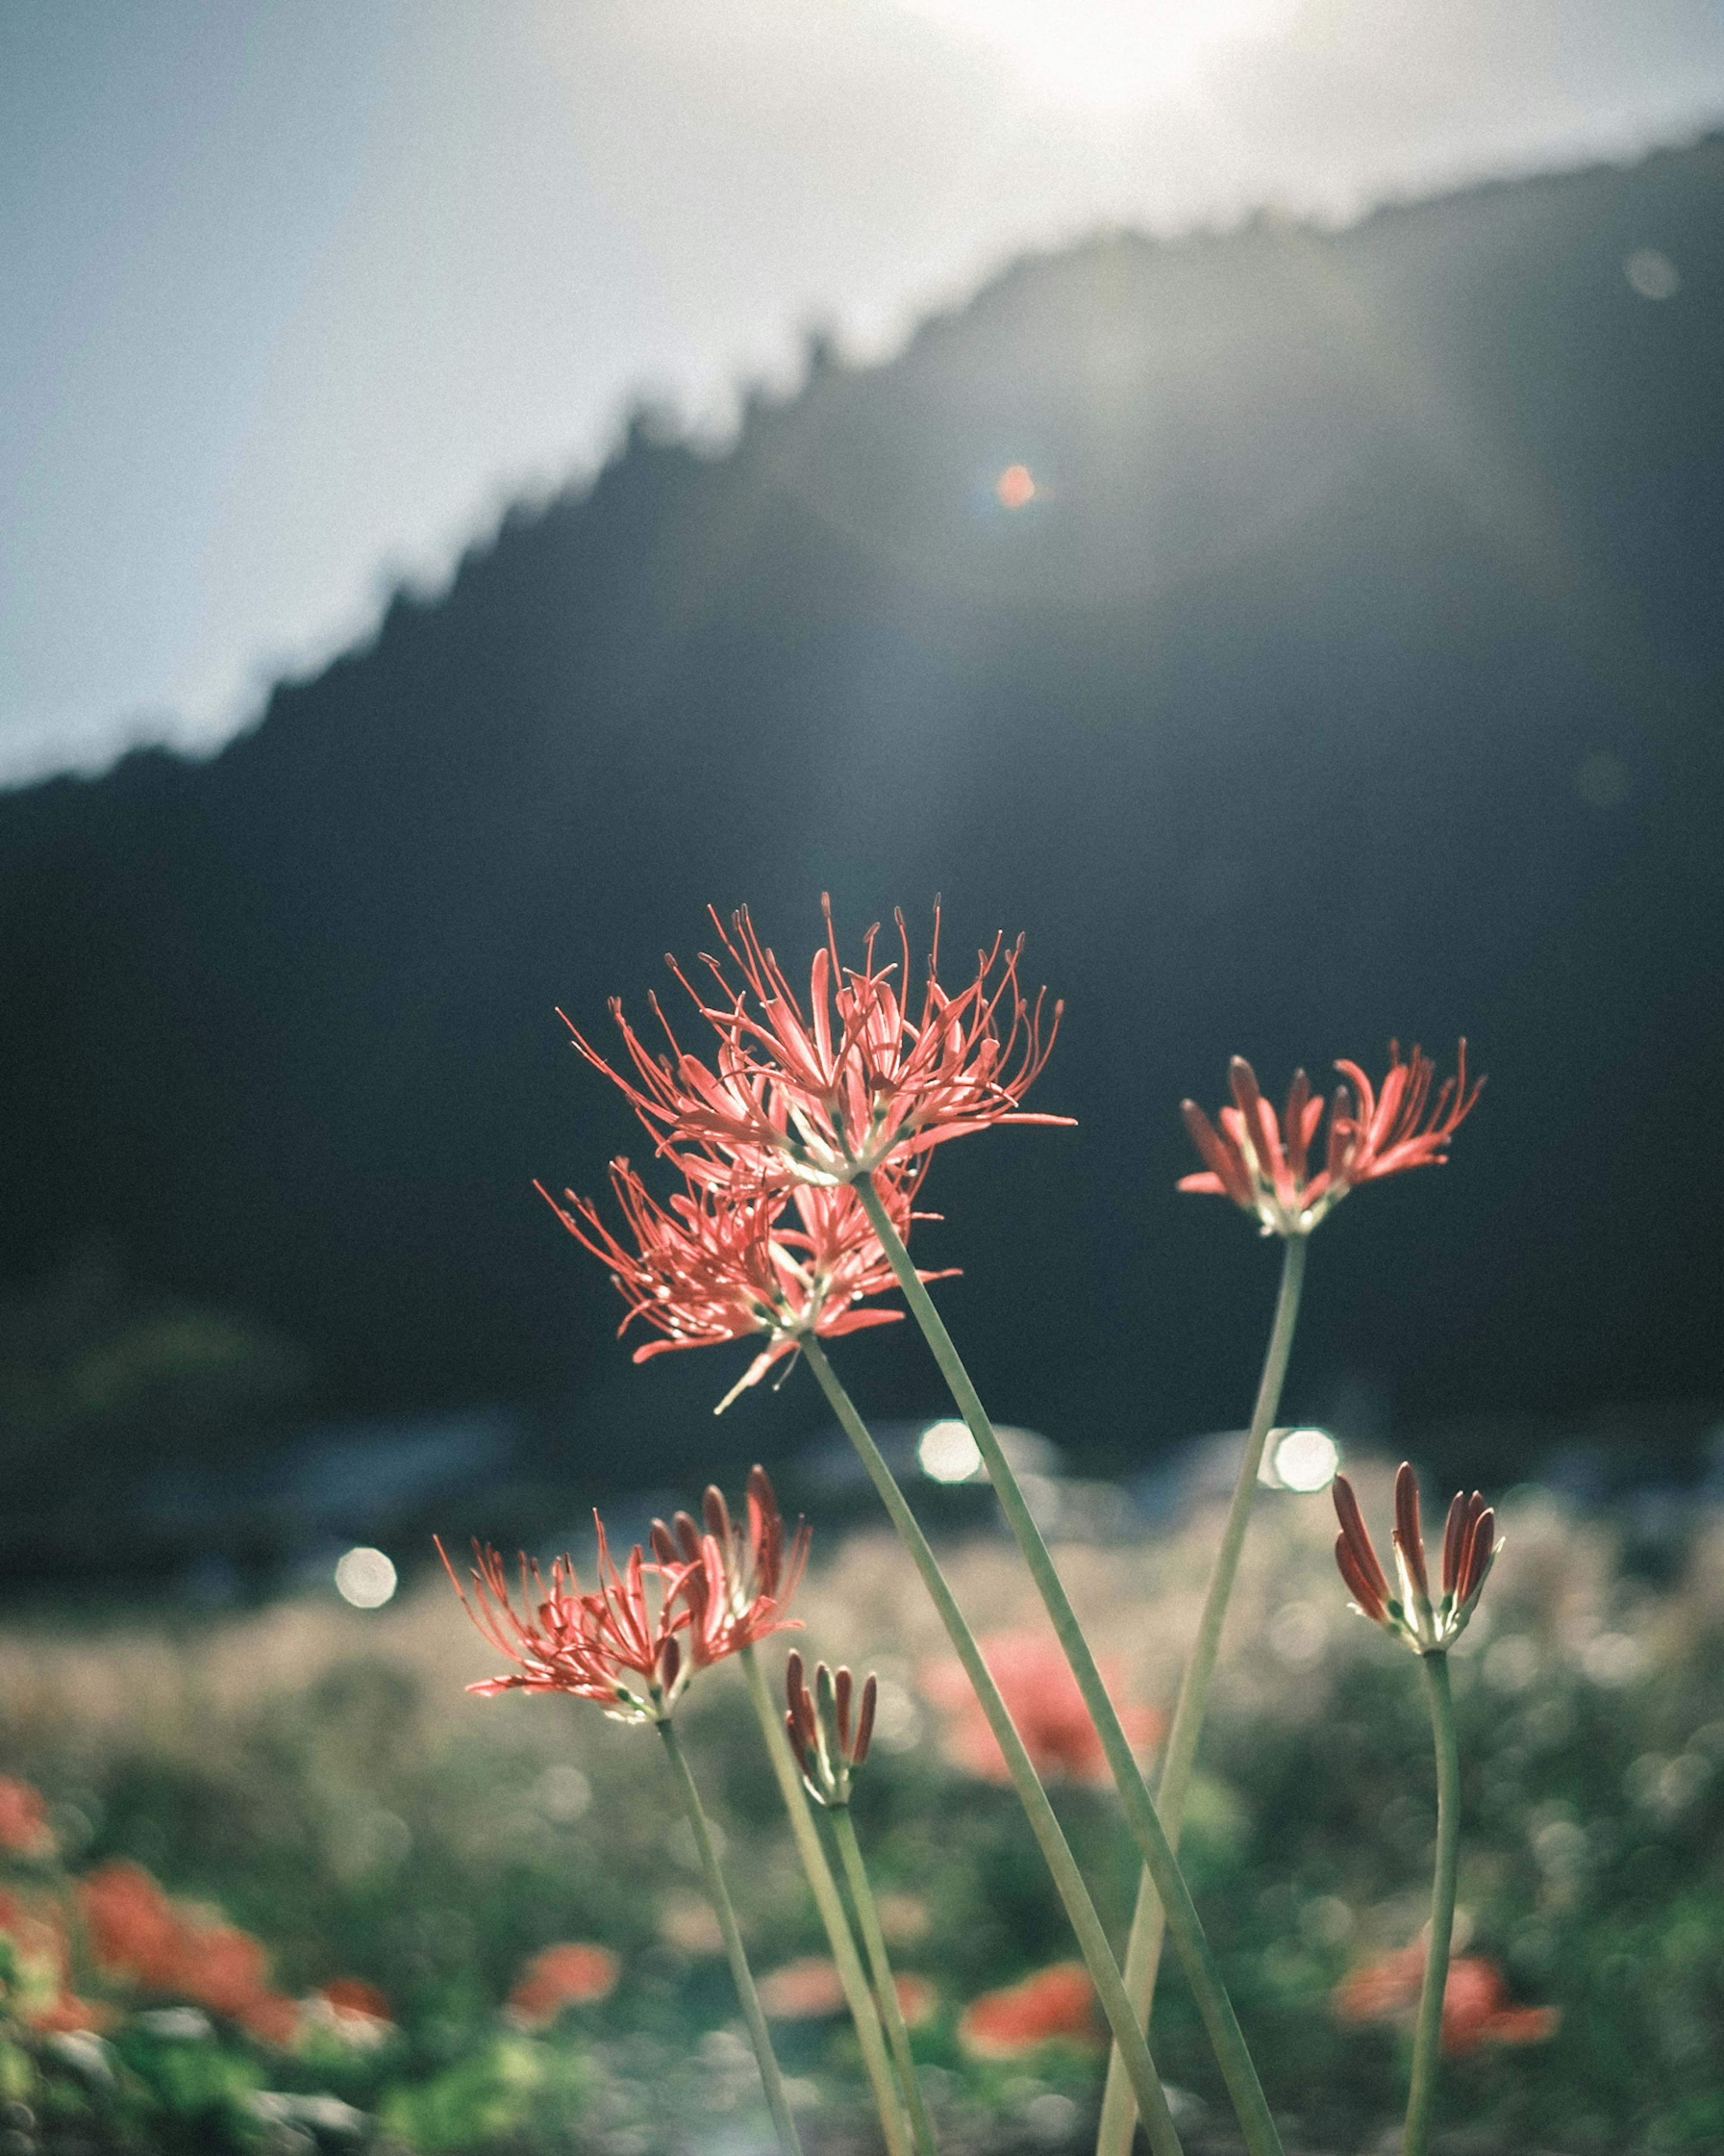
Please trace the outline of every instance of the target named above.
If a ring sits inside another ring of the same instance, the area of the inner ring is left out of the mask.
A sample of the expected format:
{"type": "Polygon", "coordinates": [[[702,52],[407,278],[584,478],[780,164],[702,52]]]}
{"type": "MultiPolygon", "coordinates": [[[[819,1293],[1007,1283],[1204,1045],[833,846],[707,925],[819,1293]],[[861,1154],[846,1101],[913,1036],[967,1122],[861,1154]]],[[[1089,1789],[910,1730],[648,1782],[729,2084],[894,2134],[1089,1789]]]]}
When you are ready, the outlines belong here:
{"type": "Polygon", "coordinates": [[[1287,1095],[1287,1112],[1276,1110],[1256,1084],[1256,1072],[1243,1056],[1228,1067],[1233,1106],[1222,1108],[1220,1130],[1194,1100],[1181,1102],[1192,1143],[1209,1162],[1196,1175],[1183,1175],[1181,1190],[1228,1197],[1248,1214],[1256,1214],[1265,1235],[1308,1235],[1355,1184],[1373,1184],[1403,1169],[1429,1169],[1448,1158],[1448,1141],[1472,1112],[1483,1078],[1468,1089],[1468,1044],[1461,1041],[1457,1074],[1444,1078],[1429,1112],[1435,1065],[1414,1048],[1412,1063],[1401,1061],[1401,1048],[1390,1041],[1390,1069],[1381,1097],[1358,1063],[1336,1063],[1358,1093],[1345,1084],[1334,1091],[1330,1110],[1330,1143],[1323,1166],[1310,1173],[1310,1143],[1323,1121],[1323,1095],[1310,1091],[1304,1072],[1295,1072],[1287,1095]],[[1420,1128],[1422,1125],[1422,1128],[1420,1128]]]}

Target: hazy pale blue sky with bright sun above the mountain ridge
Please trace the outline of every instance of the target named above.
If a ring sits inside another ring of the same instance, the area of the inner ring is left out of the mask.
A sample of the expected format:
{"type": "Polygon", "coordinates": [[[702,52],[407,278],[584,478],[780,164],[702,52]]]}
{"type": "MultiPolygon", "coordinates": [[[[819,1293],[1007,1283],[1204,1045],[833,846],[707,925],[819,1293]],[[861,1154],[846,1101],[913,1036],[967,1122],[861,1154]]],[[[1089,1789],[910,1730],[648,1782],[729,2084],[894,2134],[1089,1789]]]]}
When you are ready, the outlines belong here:
{"type": "Polygon", "coordinates": [[[1720,119],[1718,0],[0,0],[0,783],[213,746],[810,323],[1720,119]]]}

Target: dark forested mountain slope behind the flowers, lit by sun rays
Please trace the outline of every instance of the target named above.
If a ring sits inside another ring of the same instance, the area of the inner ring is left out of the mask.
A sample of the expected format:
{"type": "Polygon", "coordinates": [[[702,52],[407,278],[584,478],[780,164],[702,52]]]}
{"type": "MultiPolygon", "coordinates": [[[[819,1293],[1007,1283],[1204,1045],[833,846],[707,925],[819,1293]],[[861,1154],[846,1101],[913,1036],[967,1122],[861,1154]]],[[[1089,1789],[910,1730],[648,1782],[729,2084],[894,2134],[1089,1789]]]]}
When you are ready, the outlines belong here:
{"type": "MultiPolygon", "coordinates": [[[[522,1404],[593,1490],[769,1455],[806,1376],[713,1423],[743,1350],[634,1369],[532,1192],[649,1151],[554,1009],[675,1013],[709,903],[920,959],[940,893],[948,977],[1026,929],[1067,1003],[1078,1128],[944,1147],[918,1231],[1002,1419],[1108,1470],[1243,1421],[1276,1253],[1174,1192],[1181,1097],[1461,1033],[1485,1097],[1319,1233],[1289,1410],[1718,1399],[1722,233],[1711,138],[1021,261],[722,453],[640,418],[211,761],[0,800],[0,1283],[99,1246],[293,1414],[522,1404]]],[[[940,1412],[909,1326],[840,1348],[940,1412]]]]}

